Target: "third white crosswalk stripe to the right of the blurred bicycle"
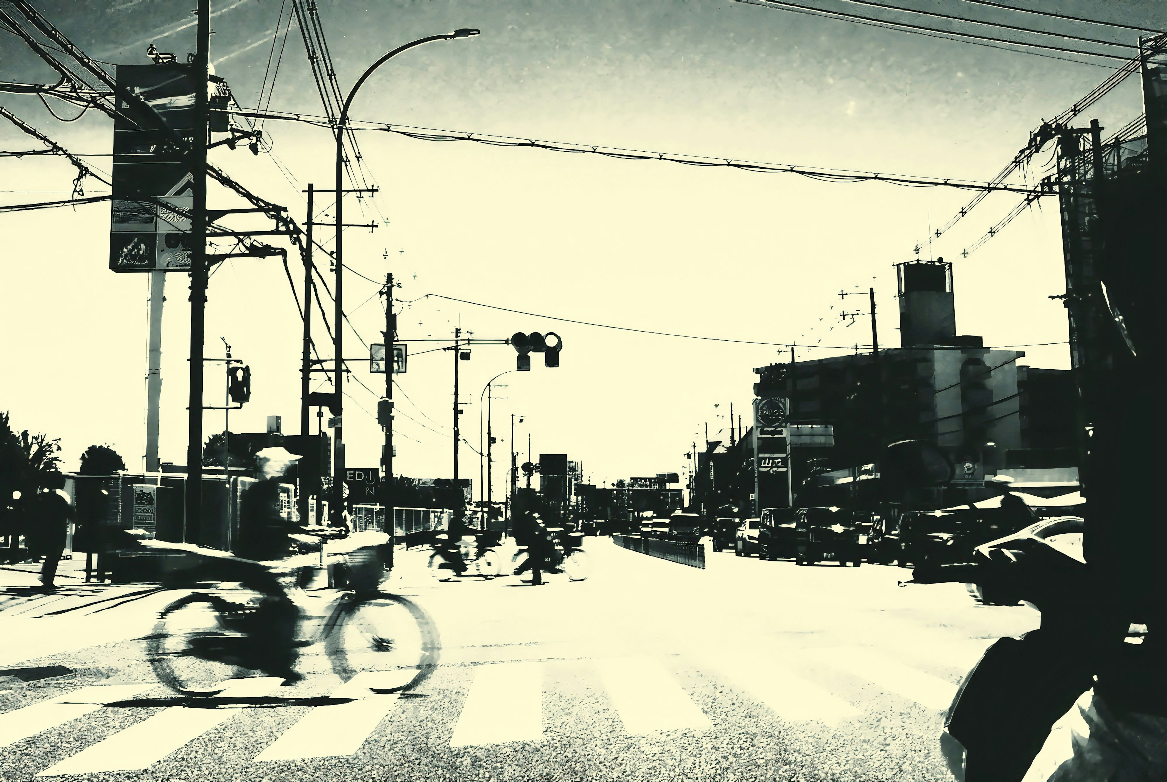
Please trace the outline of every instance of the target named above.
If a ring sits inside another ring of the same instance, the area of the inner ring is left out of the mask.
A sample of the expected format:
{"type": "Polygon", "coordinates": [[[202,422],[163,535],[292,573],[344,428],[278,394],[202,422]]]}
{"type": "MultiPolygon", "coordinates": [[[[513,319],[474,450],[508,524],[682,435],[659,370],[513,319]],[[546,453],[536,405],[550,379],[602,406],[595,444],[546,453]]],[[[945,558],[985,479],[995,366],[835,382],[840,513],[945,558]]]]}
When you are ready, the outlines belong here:
{"type": "Polygon", "coordinates": [[[817,720],[826,725],[858,717],[861,712],[826,690],[811,684],[773,656],[762,654],[707,655],[703,659],[746,692],[788,720],[817,720]]]}

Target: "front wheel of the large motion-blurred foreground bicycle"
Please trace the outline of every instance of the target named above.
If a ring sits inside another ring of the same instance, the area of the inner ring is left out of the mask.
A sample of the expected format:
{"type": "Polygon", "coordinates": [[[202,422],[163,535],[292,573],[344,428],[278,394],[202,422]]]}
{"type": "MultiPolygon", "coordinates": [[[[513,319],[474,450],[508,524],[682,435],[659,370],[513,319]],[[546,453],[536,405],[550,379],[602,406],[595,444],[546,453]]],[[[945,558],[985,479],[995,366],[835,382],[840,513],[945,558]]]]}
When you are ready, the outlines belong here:
{"type": "Polygon", "coordinates": [[[326,649],[344,682],[364,673],[375,692],[407,692],[438,666],[438,628],[413,601],[383,592],[351,595],[341,610],[326,649]]]}

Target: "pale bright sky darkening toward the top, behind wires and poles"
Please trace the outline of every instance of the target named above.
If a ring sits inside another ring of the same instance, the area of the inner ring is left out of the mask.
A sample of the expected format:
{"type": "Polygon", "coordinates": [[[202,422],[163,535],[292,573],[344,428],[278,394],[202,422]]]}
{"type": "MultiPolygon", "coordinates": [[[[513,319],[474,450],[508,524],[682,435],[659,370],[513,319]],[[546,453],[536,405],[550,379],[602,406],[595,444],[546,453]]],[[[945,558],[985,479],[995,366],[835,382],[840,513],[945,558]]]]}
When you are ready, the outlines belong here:
{"type": "MultiPolygon", "coordinates": [[[[1167,7],[1153,0],[1009,1],[1167,29],[1167,7]]],[[[806,4],[1002,35],[994,28],[956,27],[837,0],[806,4]]],[[[152,42],[180,58],[193,51],[193,5],[42,0],[37,7],[91,56],[131,64],[148,62],[152,42]]],[[[294,22],[285,42],[289,5],[212,1],[211,60],[240,105],[256,106],[270,88],[273,110],[320,114],[294,22]]],[[[356,119],[979,181],[994,176],[1043,118],[1070,106],[1118,64],[1058,55],[1093,64],[1067,62],[731,1],[319,5],[344,90],[401,43],[462,27],[482,30],[473,39],[420,47],[384,65],[355,98],[350,114],[356,119]]],[[[897,5],[1137,42],[1130,30],[965,0],[897,5]]],[[[48,67],[7,33],[0,33],[0,72],[6,81],[51,81],[48,67]]],[[[109,118],[91,111],[63,123],[33,96],[0,97],[26,121],[72,152],[93,155],[86,160],[109,170],[109,118]]],[[[53,107],[65,119],[77,113],[67,104],[53,107]]],[[[1128,79],[1077,123],[1097,117],[1117,130],[1140,110],[1138,83],[1128,79]]],[[[233,152],[219,147],[210,158],[252,191],[288,207],[302,224],[302,190],[308,183],[333,187],[331,137],[326,128],[294,121],[267,120],[263,128],[270,152],[253,156],[242,146],[233,152]]],[[[637,334],[536,315],[816,345],[797,350],[802,361],[853,352],[855,344],[869,349],[867,315],[853,322],[840,319],[843,310],[867,313],[867,296],[839,293],[874,287],[880,343],[896,347],[894,264],[915,258],[914,246],[972,195],[432,142],[376,131],[362,132],[359,142],[370,181],[380,188],[371,201],[349,196],[345,202],[345,222],[379,225],[375,231],[349,229],[344,238],[345,264],[378,281],[345,274],[344,307],[361,338],[380,341],[385,316],[377,291],[386,272],[401,282],[394,291],[401,338],[452,337],[456,327],[488,340],[532,330],[562,337],[558,369],[543,366],[537,356],[532,371],[496,382],[496,496],[505,493],[511,414],[524,419],[515,437],[520,462],[530,437],[532,454],[566,453],[599,484],[682,472],[706,424],[711,440],[727,439],[731,404],[749,426],[753,369],[789,359],[789,349],[775,345],[637,334]]],[[[7,123],[0,125],[0,144],[9,151],[40,146],[7,123]]],[[[1050,155],[1047,147],[1014,181],[1040,180],[1050,155]]],[[[0,203],[65,198],[74,174],[61,158],[0,159],[0,203]]],[[[103,187],[89,181],[86,193],[104,193],[103,187]]],[[[1000,347],[1054,343],[1021,348],[1027,354],[1021,363],[1065,368],[1065,312],[1049,299],[1064,292],[1056,202],[1041,200],[980,250],[960,256],[1020,198],[991,195],[920,257],[955,261],[960,334],[981,335],[985,344],[1000,347]]],[[[209,203],[240,205],[214,184],[209,203]]],[[[330,198],[317,197],[315,205],[317,219],[330,219],[330,198]]],[[[131,468],[140,468],[145,453],[148,275],[109,271],[109,210],[107,203],[98,203],[0,214],[0,410],[9,411],[20,428],[61,438],[67,469],[76,468],[91,444],[116,447],[131,468]]],[[[254,216],[235,217],[231,224],[271,228],[254,216]]],[[[331,231],[316,231],[331,246],[331,231]]],[[[292,275],[299,279],[298,258],[291,258],[292,275]]],[[[317,263],[327,270],[322,253],[317,263]]],[[[161,458],[176,463],[186,460],[187,441],[187,286],[181,274],[168,278],[163,315],[161,458]]],[[[324,302],[329,308],[327,298],[324,302]]],[[[222,357],[224,338],[252,373],[251,402],[232,411],[232,432],[263,431],[267,416],[282,416],[286,433],[298,431],[300,328],[278,258],[235,259],[217,267],[209,288],[207,355],[222,357]]],[[[320,355],[330,357],[319,317],[313,328],[320,355]]],[[[361,338],[345,331],[345,358],[368,355],[361,338]]],[[[411,343],[408,372],[398,377],[394,466],[414,477],[449,476],[452,470],[452,355],[421,352],[438,344],[411,343]]],[[[218,366],[208,365],[207,404],[222,404],[218,366]]],[[[352,379],[343,389],[347,461],[373,467],[382,442],[373,413],[384,376],[368,373],[359,361],[350,366],[352,379]]],[[[513,369],[515,351],[498,344],[475,345],[471,359],[461,363],[461,433],[469,442],[461,448],[460,473],[473,476],[475,487],[481,395],[494,376],[513,369]]],[[[328,390],[321,383],[314,387],[328,390]]],[[[222,412],[209,411],[204,434],[222,428],[222,412]]]]}

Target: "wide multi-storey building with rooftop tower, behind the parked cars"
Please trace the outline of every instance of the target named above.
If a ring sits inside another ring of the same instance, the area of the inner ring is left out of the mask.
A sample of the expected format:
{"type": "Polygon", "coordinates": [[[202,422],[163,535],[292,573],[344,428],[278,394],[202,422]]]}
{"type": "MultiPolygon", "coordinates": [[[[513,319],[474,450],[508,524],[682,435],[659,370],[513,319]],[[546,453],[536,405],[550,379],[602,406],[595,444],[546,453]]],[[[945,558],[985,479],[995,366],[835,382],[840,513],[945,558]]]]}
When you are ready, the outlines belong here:
{"type": "Polygon", "coordinates": [[[1064,469],[1076,467],[1068,373],[1019,366],[1023,351],[958,335],[952,265],[943,259],[899,264],[897,280],[899,348],[754,370],[755,428],[743,438],[752,512],[809,504],[831,481],[874,479],[883,447],[900,440],[943,448],[957,467],[953,484],[967,489],[984,489],[1006,467],[1063,468],[1064,484],[1064,469]],[[781,423],[759,425],[760,409],[780,411],[781,423]]]}

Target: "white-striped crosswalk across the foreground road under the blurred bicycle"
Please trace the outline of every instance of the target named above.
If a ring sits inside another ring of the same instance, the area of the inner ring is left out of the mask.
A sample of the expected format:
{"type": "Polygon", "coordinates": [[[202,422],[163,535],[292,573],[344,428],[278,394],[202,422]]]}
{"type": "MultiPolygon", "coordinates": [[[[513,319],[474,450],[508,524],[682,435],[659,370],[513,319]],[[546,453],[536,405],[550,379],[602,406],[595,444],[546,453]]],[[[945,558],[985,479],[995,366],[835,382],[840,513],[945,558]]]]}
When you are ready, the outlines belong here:
{"type": "MultiPolygon", "coordinates": [[[[538,742],[545,735],[543,710],[545,694],[553,689],[552,669],[554,675],[568,669],[587,672],[587,680],[596,683],[601,699],[617,718],[610,721],[609,729],[647,736],[670,731],[717,729],[718,704],[711,705],[707,694],[696,697],[692,676],[686,676],[693,673],[728,685],[783,720],[825,726],[864,719],[872,698],[878,697],[942,711],[957,689],[953,680],[937,675],[935,669],[913,668],[875,649],[858,647],[788,654],[711,651],[691,656],[490,662],[448,666],[447,676],[435,676],[425,685],[429,694],[446,689],[460,696],[460,700],[445,701],[460,703],[456,717],[445,710],[431,715],[429,724],[447,732],[448,739],[441,741],[448,741],[450,747],[538,742]]],[[[404,699],[372,692],[371,676],[358,675],[329,692],[327,703],[302,707],[302,715],[274,741],[254,748],[252,762],[352,756],[378,734],[383,722],[387,722],[385,731],[391,741],[394,713],[400,711],[404,699]]],[[[278,687],[279,680],[267,677],[232,680],[218,698],[203,701],[203,707],[161,707],[145,720],[58,760],[39,776],[146,769],[203,734],[228,725],[247,707],[247,698],[273,694],[278,687]]],[[[0,763],[5,747],[25,740],[35,742],[47,731],[70,724],[82,732],[86,717],[106,704],[114,705],[111,711],[128,717],[117,706],[119,701],[148,693],[156,696],[158,685],[85,686],[2,713],[0,763]]],[[[424,708],[426,700],[413,703],[422,704],[424,708]]],[[[384,738],[384,732],[379,735],[384,738]]]]}

